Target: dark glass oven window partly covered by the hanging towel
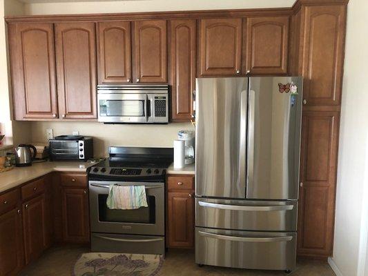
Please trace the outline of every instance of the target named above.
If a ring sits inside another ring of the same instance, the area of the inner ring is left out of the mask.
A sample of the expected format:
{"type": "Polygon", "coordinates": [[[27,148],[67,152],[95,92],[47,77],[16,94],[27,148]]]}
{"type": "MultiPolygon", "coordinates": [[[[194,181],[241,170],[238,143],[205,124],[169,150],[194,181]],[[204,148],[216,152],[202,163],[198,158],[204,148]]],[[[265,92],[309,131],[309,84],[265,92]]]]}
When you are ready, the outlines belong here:
{"type": "Polygon", "coordinates": [[[108,195],[98,195],[99,200],[99,221],[106,222],[133,222],[138,224],[156,223],[155,197],[147,195],[148,207],[141,207],[134,210],[111,210],[106,205],[108,195]]]}

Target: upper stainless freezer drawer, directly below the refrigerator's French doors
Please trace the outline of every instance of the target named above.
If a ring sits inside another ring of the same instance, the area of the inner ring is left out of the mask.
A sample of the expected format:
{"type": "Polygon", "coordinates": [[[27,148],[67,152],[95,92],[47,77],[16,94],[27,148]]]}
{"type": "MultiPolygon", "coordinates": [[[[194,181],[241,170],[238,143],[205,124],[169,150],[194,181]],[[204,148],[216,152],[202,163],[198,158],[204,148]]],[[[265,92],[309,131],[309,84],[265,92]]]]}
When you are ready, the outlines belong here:
{"type": "Polygon", "coordinates": [[[233,230],[296,231],[297,201],[195,199],[195,226],[233,230]]]}

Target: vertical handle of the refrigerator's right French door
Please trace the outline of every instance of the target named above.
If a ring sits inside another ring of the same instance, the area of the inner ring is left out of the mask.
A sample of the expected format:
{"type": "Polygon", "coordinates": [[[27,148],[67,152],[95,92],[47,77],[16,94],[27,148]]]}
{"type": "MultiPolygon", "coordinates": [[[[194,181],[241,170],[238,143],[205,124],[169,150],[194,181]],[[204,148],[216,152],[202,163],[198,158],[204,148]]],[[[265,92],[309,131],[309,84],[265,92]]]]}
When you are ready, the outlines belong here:
{"type": "Polygon", "coordinates": [[[248,116],[248,159],[246,186],[253,184],[254,165],[254,120],[255,120],[255,91],[249,90],[249,116],[248,116]]]}

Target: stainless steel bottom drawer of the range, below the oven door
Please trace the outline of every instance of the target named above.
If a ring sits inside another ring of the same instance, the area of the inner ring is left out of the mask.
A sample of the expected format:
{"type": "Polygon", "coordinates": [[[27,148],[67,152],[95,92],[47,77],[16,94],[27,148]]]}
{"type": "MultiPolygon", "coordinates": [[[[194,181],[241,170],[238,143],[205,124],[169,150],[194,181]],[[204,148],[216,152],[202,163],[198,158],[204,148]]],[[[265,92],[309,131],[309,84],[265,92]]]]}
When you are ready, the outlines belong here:
{"type": "Polygon", "coordinates": [[[165,253],[165,238],[161,236],[92,233],[90,244],[92,252],[165,253]]]}

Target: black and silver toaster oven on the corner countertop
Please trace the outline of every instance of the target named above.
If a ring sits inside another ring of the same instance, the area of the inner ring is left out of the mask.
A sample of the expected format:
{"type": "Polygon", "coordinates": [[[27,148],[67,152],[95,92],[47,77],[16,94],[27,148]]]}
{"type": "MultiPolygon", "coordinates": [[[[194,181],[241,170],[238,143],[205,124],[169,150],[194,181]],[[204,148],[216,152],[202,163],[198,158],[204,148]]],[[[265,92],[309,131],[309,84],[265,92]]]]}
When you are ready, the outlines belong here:
{"type": "Polygon", "coordinates": [[[93,158],[93,138],[61,135],[49,140],[50,160],[87,160],[93,158]]]}

